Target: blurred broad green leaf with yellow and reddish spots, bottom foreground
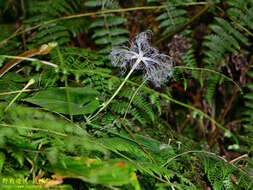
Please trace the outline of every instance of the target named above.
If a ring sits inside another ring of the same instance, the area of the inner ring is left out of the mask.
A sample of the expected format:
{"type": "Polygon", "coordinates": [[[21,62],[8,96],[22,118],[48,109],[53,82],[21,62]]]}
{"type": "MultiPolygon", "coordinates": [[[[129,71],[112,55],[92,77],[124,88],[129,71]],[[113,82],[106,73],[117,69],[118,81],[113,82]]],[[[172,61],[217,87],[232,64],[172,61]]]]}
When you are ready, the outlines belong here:
{"type": "Polygon", "coordinates": [[[135,174],[135,166],[125,160],[111,159],[102,161],[93,158],[64,159],[64,164],[58,162],[55,172],[71,177],[78,177],[84,181],[102,185],[125,185],[133,184],[135,189],[140,189],[135,174]]]}

